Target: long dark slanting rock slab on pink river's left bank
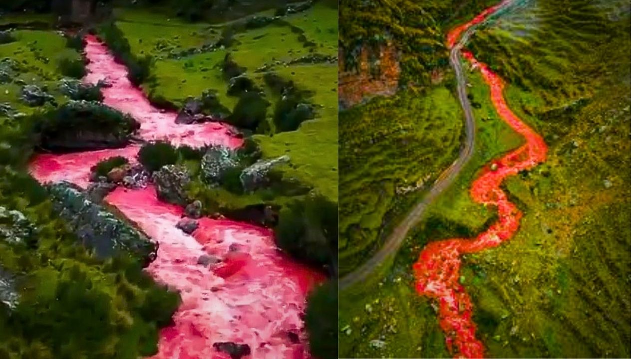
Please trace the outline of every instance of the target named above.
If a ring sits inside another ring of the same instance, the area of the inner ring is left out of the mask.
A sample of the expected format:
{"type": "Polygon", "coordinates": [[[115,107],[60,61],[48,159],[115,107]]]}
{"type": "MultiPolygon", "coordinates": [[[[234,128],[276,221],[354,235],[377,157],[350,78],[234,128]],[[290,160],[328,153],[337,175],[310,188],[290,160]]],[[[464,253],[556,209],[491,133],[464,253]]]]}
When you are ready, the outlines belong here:
{"type": "Polygon", "coordinates": [[[89,201],[88,195],[72,183],[61,181],[48,186],[53,208],[70,225],[82,245],[107,258],[125,253],[148,266],[157,257],[158,243],[133,225],[89,201]]]}

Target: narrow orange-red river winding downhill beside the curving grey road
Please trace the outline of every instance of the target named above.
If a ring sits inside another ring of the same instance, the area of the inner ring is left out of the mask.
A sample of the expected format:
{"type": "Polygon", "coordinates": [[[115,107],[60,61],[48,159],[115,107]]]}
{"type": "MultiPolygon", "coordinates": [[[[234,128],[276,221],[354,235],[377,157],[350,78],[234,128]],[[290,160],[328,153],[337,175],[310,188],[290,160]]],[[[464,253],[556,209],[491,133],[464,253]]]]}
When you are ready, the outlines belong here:
{"type": "MultiPolygon", "coordinates": [[[[455,45],[466,29],[483,22],[504,3],[483,11],[467,24],[450,31],[449,47],[455,45]]],[[[486,64],[477,61],[471,52],[465,50],[463,56],[473,67],[479,68],[484,81],[490,86],[491,102],[500,118],[522,135],[526,143],[504,157],[487,164],[470,188],[470,195],[474,201],[497,208],[497,222],[476,238],[454,238],[428,243],[422,250],[417,263],[413,264],[413,271],[417,293],[434,298],[439,303],[440,326],[445,333],[449,351],[456,357],[482,358],[484,346],[475,335],[476,327],[472,321],[473,305],[470,296],[459,283],[461,257],[464,254],[497,247],[514,236],[522,213],[508,201],[500,185],[507,176],[514,176],[520,171],[531,169],[540,162],[544,162],[546,144],[539,134],[536,134],[509,109],[504,98],[504,81],[486,64]]]]}

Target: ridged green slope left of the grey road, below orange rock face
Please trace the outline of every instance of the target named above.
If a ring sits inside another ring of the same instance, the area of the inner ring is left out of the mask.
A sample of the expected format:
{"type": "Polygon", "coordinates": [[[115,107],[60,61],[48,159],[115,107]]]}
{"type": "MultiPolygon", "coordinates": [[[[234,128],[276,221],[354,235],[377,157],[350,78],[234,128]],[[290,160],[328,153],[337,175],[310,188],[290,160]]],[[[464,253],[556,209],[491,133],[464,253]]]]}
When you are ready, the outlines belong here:
{"type": "Polygon", "coordinates": [[[383,243],[381,229],[458,157],[462,137],[461,107],[443,86],[340,113],[340,275],[383,243]]]}

